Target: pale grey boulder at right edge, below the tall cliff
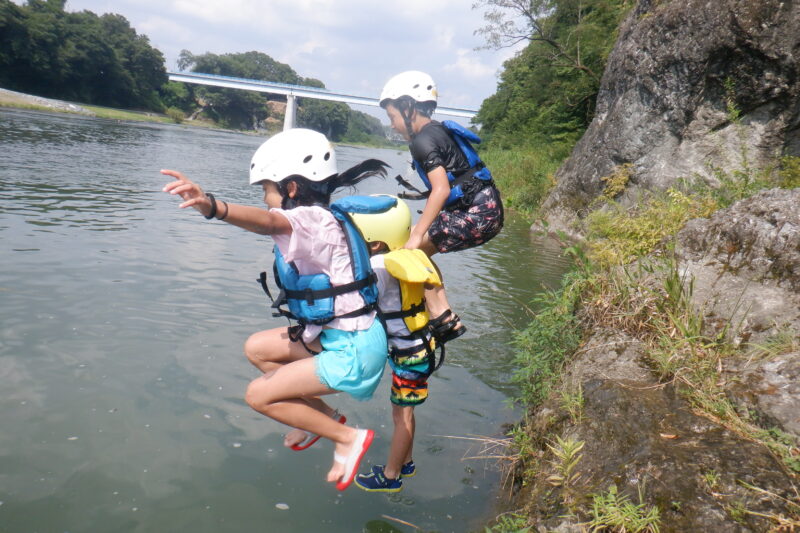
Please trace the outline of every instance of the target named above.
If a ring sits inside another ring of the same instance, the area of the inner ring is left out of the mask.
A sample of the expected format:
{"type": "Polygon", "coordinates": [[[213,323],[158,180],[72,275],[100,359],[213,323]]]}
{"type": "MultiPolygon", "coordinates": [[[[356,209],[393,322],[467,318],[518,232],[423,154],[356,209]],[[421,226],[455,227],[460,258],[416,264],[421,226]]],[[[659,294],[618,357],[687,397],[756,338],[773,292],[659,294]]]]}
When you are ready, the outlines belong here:
{"type": "Polygon", "coordinates": [[[777,327],[800,332],[800,189],[764,191],[690,221],[677,255],[716,333],[759,343],[777,327]]]}

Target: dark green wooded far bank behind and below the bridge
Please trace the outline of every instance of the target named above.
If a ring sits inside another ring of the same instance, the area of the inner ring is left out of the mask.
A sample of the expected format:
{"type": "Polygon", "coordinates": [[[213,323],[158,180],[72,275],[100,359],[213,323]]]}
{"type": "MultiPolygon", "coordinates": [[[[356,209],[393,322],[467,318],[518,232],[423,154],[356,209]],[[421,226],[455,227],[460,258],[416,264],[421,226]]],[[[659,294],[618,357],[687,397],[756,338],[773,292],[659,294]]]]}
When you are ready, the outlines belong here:
{"type": "MultiPolygon", "coordinates": [[[[229,128],[282,127],[285,97],[169,82],[163,54],[125,17],[65,11],[66,0],[0,0],[0,87],[122,109],[167,112],[177,121],[207,118],[229,128]]],[[[291,66],[251,51],[194,55],[179,67],[265,81],[324,87],[291,66]]],[[[297,125],[334,141],[385,142],[379,120],[347,105],[300,100],[297,125]]]]}

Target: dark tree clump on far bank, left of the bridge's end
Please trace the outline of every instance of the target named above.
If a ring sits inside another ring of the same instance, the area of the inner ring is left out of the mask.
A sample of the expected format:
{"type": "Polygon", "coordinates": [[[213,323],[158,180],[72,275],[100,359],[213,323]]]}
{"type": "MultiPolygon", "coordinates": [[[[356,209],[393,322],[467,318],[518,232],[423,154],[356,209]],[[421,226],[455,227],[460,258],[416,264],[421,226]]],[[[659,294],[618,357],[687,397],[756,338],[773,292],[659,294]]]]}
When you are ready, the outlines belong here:
{"type": "Polygon", "coordinates": [[[0,84],[115,107],[161,109],[164,57],[120,15],[66,13],[64,0],[0,0],[0,84]]]}

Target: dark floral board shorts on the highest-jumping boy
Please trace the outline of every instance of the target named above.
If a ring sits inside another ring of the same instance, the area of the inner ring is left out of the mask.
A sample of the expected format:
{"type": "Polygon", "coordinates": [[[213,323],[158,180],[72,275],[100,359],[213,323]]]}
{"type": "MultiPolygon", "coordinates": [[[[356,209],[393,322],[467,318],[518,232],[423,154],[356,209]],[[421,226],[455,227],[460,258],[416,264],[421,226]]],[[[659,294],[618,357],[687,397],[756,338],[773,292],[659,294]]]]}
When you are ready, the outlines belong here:
{"type": "Polygon", "coordinates": [[[431,242],[440,253],[457,252],[481,245],[503,228],[503,203],[494,185],[475,193],[466,209],[446,209],[428,229],[431,242]]]}

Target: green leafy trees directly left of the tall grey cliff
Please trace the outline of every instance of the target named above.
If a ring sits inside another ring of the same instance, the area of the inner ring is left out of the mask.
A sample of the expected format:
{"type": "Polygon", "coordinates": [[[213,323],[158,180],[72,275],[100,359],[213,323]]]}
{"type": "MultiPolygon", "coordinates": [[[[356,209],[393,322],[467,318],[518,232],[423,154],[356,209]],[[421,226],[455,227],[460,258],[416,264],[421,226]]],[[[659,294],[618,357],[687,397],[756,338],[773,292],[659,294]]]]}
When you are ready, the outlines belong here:
{"type": "Polygon", "coordinates": [[[594,116],[600,76],[631,0],[479,0],[487,46],[527,46],[504,64],[475,121],[491,143],[574,143],[594,116]]]}

